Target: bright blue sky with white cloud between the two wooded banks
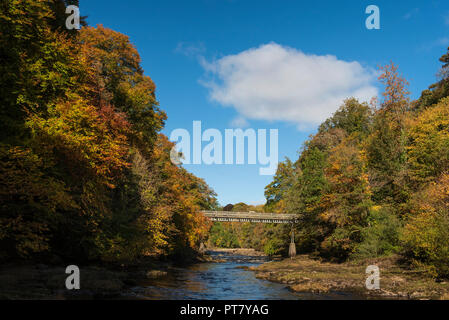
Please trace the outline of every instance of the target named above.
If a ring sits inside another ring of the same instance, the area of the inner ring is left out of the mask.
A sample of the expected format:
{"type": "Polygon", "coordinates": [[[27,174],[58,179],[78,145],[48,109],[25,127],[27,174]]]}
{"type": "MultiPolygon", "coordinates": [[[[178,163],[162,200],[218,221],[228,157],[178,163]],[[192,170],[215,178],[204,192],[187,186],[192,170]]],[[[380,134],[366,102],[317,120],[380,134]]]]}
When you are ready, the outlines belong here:
{"type": "MultiPolygon", "coordinates": [[[[296,159],[345,95],[380,92],[378,65],[399,65],[417,98],[449,46],[445,0],[81,0],[80,11],[137,47],[168,115],[163,133],[192,131],[195,120],[223,133],[278,129],[280,160],[296,159]],[[380,30],[365,27],[370,4],[380,9],[380,30]]],[[[259,167],[186,165],[223,205],[264,202],[272,177],[259,167]]]]}

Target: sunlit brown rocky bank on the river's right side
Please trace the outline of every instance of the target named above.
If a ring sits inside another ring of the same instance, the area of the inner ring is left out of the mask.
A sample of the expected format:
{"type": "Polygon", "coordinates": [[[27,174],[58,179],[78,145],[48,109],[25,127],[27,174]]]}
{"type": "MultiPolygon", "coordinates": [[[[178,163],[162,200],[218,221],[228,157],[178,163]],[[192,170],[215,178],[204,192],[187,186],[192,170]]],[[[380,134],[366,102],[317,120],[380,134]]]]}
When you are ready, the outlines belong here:
{"type": "Polygon", "coordinates": [[[350,292],[366,298],[387,299],[449,299],[449,281],[436,282],[424,272],[402,266],[397,257],[337,264],[298,255],[249,269],[255,271],[259,279],[286,284],[294,292],[350,292]],[[380,269],[379,290],[365,287],[368,265],[377,265],[380,269]]]}

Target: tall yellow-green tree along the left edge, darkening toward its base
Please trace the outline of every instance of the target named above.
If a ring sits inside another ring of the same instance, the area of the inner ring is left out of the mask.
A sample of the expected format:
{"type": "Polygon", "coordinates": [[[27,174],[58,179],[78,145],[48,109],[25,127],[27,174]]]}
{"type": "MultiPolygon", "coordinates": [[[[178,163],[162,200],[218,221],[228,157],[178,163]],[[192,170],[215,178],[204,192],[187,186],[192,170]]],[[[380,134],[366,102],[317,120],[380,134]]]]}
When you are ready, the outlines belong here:
{"type": "Polygon", "coordinates": [[[1,192],[0,241],[9,256],[48,251],[62,213],[77,207],[58,159],[46,153],[33,129],[76,92],[84,70],[74,40],[54,31],[52,4],[0,4],[1,179],[15,177],[1,192]]]}

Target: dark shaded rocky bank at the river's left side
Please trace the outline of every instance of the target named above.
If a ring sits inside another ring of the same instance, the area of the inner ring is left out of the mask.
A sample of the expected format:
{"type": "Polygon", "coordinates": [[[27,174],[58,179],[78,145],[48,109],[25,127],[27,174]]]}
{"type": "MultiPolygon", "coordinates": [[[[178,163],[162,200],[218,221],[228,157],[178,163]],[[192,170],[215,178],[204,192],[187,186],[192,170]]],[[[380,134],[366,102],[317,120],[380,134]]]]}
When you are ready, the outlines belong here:
{"type": "MultiPolygon", "coordinates": [[[[184,265],[208,261],[208,256],[198,256],[184,265]]],[[[81,289],[67,290],[66,266],[10,263],[0,266],[0,300],[120,298],[126,289],[164,277],[178,266],[151,258],[128,265],[78,265],[81,289]]]]}

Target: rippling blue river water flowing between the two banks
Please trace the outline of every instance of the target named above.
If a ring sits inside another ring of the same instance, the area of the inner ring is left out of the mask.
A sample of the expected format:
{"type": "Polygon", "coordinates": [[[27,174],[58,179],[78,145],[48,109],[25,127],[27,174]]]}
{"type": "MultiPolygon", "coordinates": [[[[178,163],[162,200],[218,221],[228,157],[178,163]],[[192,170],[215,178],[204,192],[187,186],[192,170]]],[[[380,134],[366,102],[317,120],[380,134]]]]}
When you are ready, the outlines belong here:
{"type": "Polygon", "coordinates": [[[210,252],[210,255],[220,262],[176,268],[167,276],[148,280],[132,288],[124,297],[154,300],[357,299],[344,293],[294,293],[283,284],[257,279],[253,271],[242,268],[264,263],[268,261],[266,257],[233,255],[226,252],[210,252]]]}

